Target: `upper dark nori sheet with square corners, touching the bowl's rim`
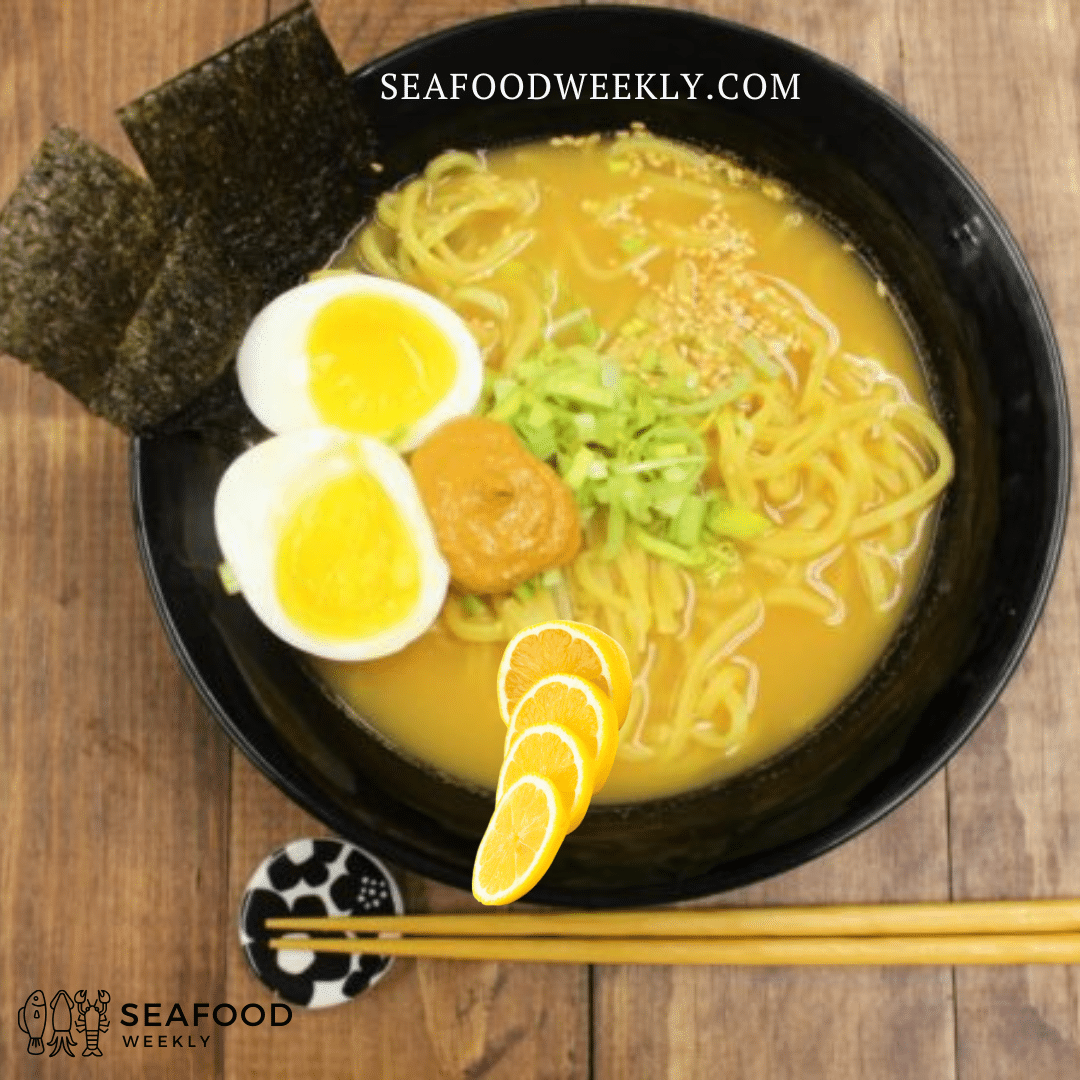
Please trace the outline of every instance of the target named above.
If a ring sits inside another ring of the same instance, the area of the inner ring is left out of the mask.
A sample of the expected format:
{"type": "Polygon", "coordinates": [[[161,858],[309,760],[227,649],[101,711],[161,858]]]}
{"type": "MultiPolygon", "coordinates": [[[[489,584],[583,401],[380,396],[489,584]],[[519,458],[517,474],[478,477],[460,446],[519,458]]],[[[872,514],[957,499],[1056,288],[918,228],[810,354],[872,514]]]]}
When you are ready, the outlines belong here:
{"type": "Polygon", "coordinates": [[[370,205],[368,125],[310,8],[120,111],[178,214],[207,214],[262,299],[338,248],[370,205]]]}

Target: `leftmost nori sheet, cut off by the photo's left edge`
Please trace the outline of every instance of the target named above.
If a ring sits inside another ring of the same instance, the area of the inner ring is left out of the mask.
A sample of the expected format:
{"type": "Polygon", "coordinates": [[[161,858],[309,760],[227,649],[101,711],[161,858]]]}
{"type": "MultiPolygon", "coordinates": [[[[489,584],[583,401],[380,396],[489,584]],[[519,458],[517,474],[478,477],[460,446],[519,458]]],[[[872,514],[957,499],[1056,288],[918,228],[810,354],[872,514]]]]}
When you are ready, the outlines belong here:
{"type": "Polygon", "coordinates": [[[0,348],[89,404],[170,239],[146,181],[54,130],[0,211],[0,348]]]}

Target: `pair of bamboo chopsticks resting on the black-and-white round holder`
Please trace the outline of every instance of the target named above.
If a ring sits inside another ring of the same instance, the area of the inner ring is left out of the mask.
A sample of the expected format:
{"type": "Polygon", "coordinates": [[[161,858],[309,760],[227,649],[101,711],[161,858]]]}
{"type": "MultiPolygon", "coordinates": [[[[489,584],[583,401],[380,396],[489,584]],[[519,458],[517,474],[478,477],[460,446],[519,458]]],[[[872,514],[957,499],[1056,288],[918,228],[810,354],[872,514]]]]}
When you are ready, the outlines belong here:
{"type": "Polygon", "coordinates": [[[1080,962],[1080,900],[267,919],[275,949],[545,963],[1080,962]],[[403,937],[402,934],[413,934],[403,937]]]}

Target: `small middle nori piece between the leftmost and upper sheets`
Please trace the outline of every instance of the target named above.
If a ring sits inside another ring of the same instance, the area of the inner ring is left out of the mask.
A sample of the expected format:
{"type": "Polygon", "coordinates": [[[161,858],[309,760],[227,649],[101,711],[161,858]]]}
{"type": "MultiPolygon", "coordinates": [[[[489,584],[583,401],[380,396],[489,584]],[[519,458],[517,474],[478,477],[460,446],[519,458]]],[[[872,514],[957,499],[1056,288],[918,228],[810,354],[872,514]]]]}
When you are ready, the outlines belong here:
{"type": "Polygon", "coordinates": [[[192,218],[129,323],[90,407],[131,431],[160,423],[225,370],[258,306],[256,284],[229,272],[212,230],[192,218]]]}

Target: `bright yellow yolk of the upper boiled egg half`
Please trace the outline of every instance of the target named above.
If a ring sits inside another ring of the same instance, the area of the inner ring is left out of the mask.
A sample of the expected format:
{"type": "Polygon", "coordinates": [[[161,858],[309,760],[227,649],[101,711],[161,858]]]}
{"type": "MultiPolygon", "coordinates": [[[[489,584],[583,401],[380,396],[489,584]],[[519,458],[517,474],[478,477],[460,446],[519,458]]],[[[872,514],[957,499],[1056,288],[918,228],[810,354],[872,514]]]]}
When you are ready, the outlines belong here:
{"type": "Polygon", "coordinates": [[[457,360],[430,319],[401,300],[330,300],[307,340],[309,390],[320,416],[345,431],[388,435],[415,423],[454,384],[457,360]]]}

